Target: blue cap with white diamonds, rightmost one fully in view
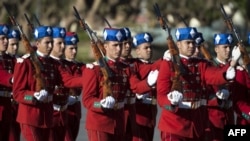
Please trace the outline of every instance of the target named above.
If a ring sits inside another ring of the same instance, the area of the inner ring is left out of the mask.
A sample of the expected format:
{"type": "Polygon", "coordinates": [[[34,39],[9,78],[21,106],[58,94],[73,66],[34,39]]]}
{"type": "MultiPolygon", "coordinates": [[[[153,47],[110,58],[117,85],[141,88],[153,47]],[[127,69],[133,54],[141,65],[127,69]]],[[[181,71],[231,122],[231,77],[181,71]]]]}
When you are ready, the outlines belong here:
{"type": "Polygon", "coordinates": [[[233,42],[232,34],[219,33],[214,34],[214,45],[231,44],[233,42]]]}

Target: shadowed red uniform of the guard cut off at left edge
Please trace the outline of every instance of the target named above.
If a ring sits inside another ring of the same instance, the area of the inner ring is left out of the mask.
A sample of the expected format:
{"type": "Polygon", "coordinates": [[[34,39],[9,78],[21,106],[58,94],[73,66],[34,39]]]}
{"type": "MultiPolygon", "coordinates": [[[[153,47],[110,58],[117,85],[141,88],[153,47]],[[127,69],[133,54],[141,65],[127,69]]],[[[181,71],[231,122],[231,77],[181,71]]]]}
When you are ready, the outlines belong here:
{"type": "Polygon", "coordinates": [[[11,120],[12,73],[15,59],[8,54],[0,55],[0,140],[8,140],[11,120]]]}

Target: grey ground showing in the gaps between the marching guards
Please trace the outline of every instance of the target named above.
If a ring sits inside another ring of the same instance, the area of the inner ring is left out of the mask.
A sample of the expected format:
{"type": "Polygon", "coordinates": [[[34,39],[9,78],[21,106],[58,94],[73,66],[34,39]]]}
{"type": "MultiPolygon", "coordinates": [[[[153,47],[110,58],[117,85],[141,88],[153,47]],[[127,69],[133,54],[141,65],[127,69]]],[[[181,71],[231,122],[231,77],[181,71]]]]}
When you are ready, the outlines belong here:
{"type": "MultiPolygon", "coordinates": [[[[158,109],[160,109],[160,108],[158,107],[158,109]]],[[[77,137],[77,141],[87,141],[88,140],[86,130],[84,128],[84,126],[85,126],[85,113],[86,113],[86,109],[82,108],[82,119],[81,119],[80,131],[79,131],[79,134],[77,137]]],[[[160,110],[158,111],[157,119],[159,118],[159,114],[160,114],[160,110]]],[[[159,130],[157,128],[155,129],[155,135],[154,135],[153,141],[160,141],[160,134],[159,134],[159,130]]]]}

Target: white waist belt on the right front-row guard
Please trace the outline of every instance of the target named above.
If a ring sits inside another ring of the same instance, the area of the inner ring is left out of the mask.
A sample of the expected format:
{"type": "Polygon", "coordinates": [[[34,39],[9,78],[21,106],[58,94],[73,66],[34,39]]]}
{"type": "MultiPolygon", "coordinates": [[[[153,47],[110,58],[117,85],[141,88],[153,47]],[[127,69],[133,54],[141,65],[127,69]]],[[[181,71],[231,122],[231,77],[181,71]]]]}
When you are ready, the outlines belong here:
{"type": "Polygon", "coordinates": [[[201,99],[198,101],[192,101],[192,102],[185,102],[182,101],[181,103],[179,103],[179,108],[183,108],[183,109],[197,109],[200,106],[205,106],[207,105],[207,100],[206,99],[201,99]]]}

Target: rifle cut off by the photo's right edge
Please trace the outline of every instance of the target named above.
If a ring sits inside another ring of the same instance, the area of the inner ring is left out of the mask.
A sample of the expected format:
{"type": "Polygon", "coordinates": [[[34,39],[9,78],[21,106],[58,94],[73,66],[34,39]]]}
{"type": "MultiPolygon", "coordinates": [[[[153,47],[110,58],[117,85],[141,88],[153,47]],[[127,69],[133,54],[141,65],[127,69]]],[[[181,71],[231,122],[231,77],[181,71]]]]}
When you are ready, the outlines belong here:
{"type": "Polygon", "coordinates": [[[242,59],[243,59],[243,65],[246,67],[246,70],[248,74],[250,74],[250,59],[246,50],[246,47],[243,45],[243,41],[241,40],[240,36],[238,35],[238,31],[234,27],[233,21],[231,18],[228,17],[223,5],[220,3],[220,9],[221,13],[224,17],[225,23],[229,30],[234,33],[235,37],[238,40],[238,47],[240,48],[241,54],[242,54],[242,59]]]}

